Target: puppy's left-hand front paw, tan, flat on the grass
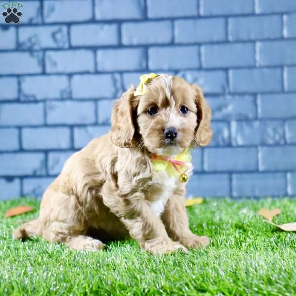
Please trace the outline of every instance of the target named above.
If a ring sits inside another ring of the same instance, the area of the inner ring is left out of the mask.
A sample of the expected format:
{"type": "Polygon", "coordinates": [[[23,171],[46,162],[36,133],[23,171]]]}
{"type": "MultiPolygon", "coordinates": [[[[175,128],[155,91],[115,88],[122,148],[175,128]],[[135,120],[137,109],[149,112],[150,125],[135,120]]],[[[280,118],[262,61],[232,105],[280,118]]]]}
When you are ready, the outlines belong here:
{"type": "Polygon", "coordinates": [[[173,241],[146,241],[144,249],[152,254],[167,254],[177,252],[178,250],[188,253],[187,248],[173,241]]]}

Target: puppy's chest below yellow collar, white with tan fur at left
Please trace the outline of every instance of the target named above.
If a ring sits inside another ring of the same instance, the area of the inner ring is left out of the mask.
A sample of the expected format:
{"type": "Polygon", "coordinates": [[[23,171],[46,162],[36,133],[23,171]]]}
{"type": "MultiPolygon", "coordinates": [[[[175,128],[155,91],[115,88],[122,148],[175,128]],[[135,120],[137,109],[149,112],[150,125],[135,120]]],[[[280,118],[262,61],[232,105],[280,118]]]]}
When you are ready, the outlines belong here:
{"type": "Polygon", "coordinates": [[[146,191],[146,198],[151,211],[160,216],[168,199],[172,196],[174,190],[178,187],[178,177],[169,177],[166,172],[155,172],[154,178],[146,191]]]}

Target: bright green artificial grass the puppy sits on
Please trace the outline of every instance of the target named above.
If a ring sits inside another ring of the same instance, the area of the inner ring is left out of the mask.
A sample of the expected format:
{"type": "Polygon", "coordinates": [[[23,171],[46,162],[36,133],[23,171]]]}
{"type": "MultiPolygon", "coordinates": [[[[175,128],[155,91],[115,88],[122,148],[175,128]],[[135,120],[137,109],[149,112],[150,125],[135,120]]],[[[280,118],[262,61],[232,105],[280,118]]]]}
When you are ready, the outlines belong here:
{"type": "Polygon", "coordinates": [[[104,251],[72,251],[42,238],[12,240],[12,229],[38,211],[4,218],[0,202],[0,295],[296,295],[296,233],[257,215],[279,207],[274,222],[296,222],[296,200],[207,199],[188,208],[191,230],[211,244],[189,254],[150,255],[134,240],[104,251]]]}

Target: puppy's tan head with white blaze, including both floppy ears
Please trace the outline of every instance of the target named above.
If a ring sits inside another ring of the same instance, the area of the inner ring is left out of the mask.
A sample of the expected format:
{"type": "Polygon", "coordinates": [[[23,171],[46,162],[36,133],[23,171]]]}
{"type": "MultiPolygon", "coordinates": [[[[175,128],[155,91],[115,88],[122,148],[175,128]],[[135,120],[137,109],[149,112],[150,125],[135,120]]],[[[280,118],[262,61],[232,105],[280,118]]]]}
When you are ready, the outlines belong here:
{"type": "Polygon", "coordinates": [[[211,109],[202,90],[176,76],[160,74],[145,94],[131,87],[116,101],[111,118],[111,140],[120,147],[137,146],[172,156],[212,137],[211,109]]]}

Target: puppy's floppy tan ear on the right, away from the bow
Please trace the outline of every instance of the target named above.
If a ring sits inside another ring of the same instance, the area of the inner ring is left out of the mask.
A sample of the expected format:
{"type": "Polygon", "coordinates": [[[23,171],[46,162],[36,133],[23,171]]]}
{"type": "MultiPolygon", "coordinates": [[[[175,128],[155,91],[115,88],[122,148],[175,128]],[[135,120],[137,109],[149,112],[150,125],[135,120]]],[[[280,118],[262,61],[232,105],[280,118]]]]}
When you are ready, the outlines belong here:
{"type": "Polygon", "coordinates": [[[208,102],[203,96],[202,89],[192,84],[195,90],[195,104],[197,107],[197,127],[195,130],[195,142],[198,146],[208,145],[212,139],[211,130],[212,111],[208,102]]]}

